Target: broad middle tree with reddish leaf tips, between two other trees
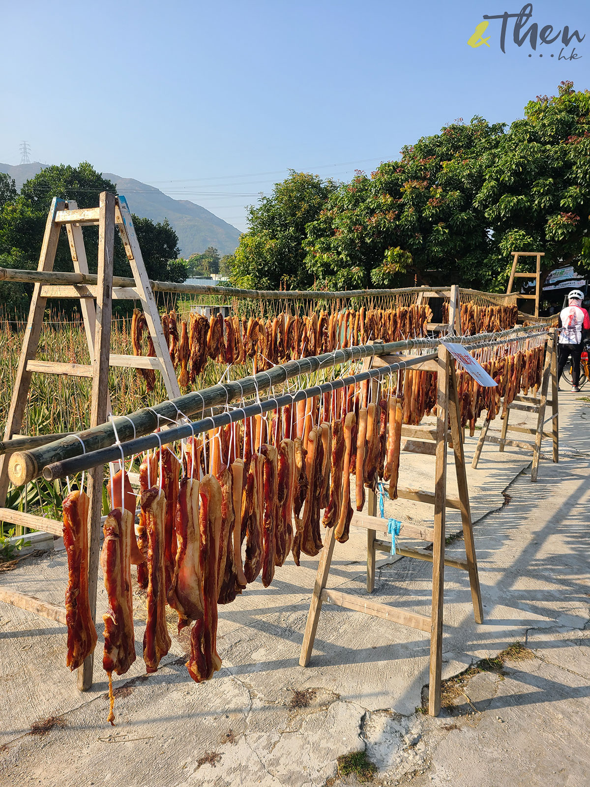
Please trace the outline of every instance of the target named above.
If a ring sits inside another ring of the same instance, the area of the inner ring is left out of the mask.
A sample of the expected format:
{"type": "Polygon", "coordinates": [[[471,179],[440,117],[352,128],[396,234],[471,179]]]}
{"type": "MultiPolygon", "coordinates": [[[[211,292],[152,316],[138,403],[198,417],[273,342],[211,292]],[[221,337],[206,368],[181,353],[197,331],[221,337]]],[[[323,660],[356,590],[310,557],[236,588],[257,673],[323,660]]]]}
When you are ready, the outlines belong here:
{"type": "Polygon", "coordinates": [[[479,162],[502,135],[503,124],[459,119],[371,177],[357,172],[308,225],[308,270],[338,290],[489,281],[488,226],[473,201],[485,177],[479,162]]]}

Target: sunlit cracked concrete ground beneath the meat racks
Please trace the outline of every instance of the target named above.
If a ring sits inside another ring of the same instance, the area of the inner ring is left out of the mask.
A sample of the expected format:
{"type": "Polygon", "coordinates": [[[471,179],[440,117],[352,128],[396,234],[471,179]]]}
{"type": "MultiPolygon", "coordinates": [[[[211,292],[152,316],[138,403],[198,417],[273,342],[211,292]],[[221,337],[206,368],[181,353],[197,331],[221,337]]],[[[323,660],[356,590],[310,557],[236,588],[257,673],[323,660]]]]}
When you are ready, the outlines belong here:
{"type": "MultiPolygon", "coordinates": [[[[429,660],[422,632],[324,604],[312,662],[299,666],[317,559],[300,568],[289,561],[270,588],[256,582],[219,608],[223,669],[201,685],[184,667],[186,637],[173,636],[160,671],[144,674],[145,602],[136,594],[138,659],[116,679],[115,727],[106,722],[101,639],[96,682],[81,694],[65,667],[65,627],[0,604],[0,785],[356,784],[348,761],[337,765],[351,752],[361,752],[357,766],[374,763],[377,784],[590,783],[583,399],[561,394],[560,462],[551,463],[545,442],[536,484],[518,449],[486,445],[478,469],[469,467],[485,623],[474,623],[466,574],[447,567],[447,682],[437,719],[421,709],[429,660]],[[511,648],[517,641],[522,647],[511,648]]],[[[521,412],[513,419],[531,423],[521,412]]],[[[466,440],[468,460],[476,439],[466,440]]],[[[433,457],[404,453],[400,483],[433,489],[433,467],[433,457]]],[[[453,494],[452,463],[448,469],[453,494]]],[[[430,507],[409,501],[388,502],[385,514],[432,519],[430,507]]],[[[448,534],[459,527],[449,511],[448,534]]],[[[461,555],[463,541],[448,553],[461,555]]],[[[365,560],[365,531],[354,529],[336,546],[329,586],[362,597],[365,560]]],[[[429,563],[398,557],[378,565],[376,600],[430,615],[429,563]]],[[[50,552],[20,561],[0,582],[63,604],[65,577],[64,553],[50,552]]],[[[98,606],[105,608],[104,589],[98,606]]]]}

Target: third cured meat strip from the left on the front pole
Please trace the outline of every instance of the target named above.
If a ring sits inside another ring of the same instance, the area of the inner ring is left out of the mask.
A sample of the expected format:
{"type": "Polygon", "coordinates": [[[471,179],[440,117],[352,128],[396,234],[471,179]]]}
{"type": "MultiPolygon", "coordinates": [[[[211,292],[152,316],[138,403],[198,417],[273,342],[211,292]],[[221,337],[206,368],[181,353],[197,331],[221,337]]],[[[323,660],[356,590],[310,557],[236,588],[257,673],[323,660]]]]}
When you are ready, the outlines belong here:
{"type": "Polygon", "coordinates": [[[166,496],[153,486],[142,492],[142,511],[148,535],[147,621],[143,634],[143,660],[146,672],[156,672],[162,656],[171,645],[166,626],[166,571],[164,559],[166,496]]]}

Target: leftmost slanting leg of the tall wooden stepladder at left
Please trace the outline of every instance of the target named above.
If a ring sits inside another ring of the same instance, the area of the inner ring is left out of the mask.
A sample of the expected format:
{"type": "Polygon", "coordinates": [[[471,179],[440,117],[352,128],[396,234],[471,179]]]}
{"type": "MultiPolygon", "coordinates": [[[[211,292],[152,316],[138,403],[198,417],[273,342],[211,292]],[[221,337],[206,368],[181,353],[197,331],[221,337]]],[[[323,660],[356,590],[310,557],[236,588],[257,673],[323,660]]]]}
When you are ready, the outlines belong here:
{"type": "MultiPolygon", "coordinates": [[[[57,241],[60,235],[60,226],[54,224],[53,219],[56,212],[61,210],[64,205],[65,201],[57,197],[53,198],[51,202],[51,208],[47,214],[41,252],[39,253],[38,271],[53,270],[53,260],[55,260],[57,241]]],[[[28,390],[31,385],[31,372],[27,371],[27,364],[29,360],[35,358],[37,353],[45,305],[46,299],[41,297],[41,285],[35,284],[28,312],[27,328],[24,332],[23,346],[20,350],[17,374],[14,379],[13,396],[10,400],[8,416],[6,417],[5,440],[8,440],[15,432],[20,431],[20,425],[23,423],[24,408],[27,405],[28,390]]],[[[8,485],[8,457],[0,456],[0,505],[3,505],[6,501],[8,485]]]]}

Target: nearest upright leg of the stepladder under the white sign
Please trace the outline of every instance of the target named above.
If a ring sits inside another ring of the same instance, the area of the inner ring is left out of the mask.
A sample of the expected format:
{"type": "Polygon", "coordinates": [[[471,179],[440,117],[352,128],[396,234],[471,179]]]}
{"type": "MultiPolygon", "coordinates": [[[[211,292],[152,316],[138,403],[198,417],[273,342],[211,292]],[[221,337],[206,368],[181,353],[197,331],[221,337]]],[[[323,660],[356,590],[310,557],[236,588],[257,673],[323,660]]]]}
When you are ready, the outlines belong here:
{"type": "Polygon", "coordinates": [[[428,693],[428,712],[432,716],[437,716],[441,712],[444,525],[447,502],[448,367],[448,349],[446,349],[444,345],[439,345],[437,375],[437,461],[434,484],[432,615],[430,621],[430,683],[428,693]]]}

